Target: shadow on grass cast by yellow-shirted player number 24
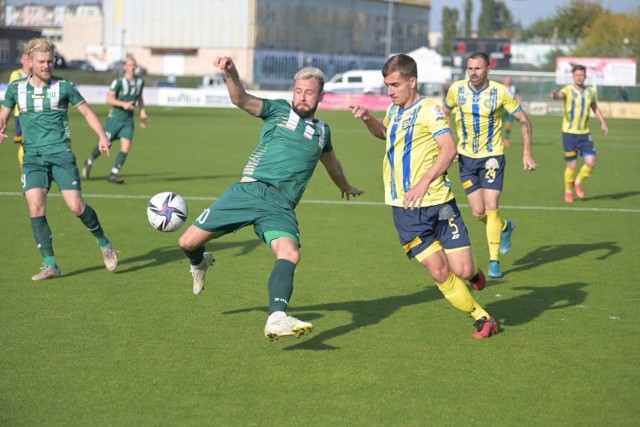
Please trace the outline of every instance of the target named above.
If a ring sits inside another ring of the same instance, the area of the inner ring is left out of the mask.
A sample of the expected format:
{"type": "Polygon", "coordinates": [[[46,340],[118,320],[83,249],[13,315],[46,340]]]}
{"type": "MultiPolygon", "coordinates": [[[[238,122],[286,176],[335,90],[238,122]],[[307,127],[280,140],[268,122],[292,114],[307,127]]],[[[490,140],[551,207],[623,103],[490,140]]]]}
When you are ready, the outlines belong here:
{"type": "Polygon", "coordinates": [[[526,271],[541,264],[549,264],[552,262],[562,261],[564,259],[574,258],[584,255],[588,252],[604,252],[597,257],[597,260],[605,260],[610,256],[616,255],[622,249],[616,242],[599,242],[588,244],[567,244],[567,245],[545,245],[530,252],[522,258],[516,260],[514,268],[505,270],[504,273],[515,273],[517,271],[526,271]]]}

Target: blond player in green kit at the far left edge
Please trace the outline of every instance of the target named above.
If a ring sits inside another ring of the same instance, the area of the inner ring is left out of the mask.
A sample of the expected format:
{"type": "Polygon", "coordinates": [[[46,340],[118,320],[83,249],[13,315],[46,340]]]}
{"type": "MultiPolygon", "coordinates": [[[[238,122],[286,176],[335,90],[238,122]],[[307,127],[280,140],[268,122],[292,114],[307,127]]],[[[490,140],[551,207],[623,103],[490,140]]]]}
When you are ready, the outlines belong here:
{"type": "Polygon", "coordinates": [[[67,207],[98,241],[107,270],[113,271],[118,265],[116,252],[105,236],[98,216],[82,197],[76,156],[71,151],[69,106],[76,107],[98,135],[101,152],[109,154],[111,143],[100,120],[76,86],[52,75],[54,52],[55,45],[43,38],[26,44],[31,74],[9,84],[0,108],[0,141],[4,139],[9,114],[15,106],[20,109],[25,152],[22,190],[29,206],[33,236],[44,258],[40,272],[32,280],[60,276],[46,217],[47,195],[52,181],[60,188],[67,207]]]}

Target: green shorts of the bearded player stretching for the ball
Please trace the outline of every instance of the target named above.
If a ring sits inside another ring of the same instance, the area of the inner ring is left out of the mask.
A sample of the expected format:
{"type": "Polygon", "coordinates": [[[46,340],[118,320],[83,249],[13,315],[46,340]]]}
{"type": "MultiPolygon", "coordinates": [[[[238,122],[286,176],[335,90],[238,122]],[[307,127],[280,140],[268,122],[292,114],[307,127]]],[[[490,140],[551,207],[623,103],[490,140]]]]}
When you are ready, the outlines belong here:
{"type": "Polygon", "coordinates": [[[235,233],[249,225],[267,245],[278,237],[289,237],[300,246],[300,229],[294,204],[264,182],[238,182],[200,214],[193,225],[215,238],[235,233]]]}

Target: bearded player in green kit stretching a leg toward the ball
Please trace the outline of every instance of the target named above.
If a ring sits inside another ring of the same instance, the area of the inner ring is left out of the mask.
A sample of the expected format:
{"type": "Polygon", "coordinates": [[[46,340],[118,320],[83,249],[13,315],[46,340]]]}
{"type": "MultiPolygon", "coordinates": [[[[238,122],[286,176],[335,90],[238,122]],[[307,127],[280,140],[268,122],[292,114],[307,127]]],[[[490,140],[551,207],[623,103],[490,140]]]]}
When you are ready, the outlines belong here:
{"type": "Polygon", "coordinates": [[[322,101],[324,75],[317,68],[303,68],[294,78],[293,102],[262,99],[248,94],[235,64],[218,57],[214,66],[227,76],[234,105],[263,120],[260,140],[239,182],[231,185],[182,234],[179,244],[191,264],[193,293],[204,289],[213,255],[205,243],[252,225],[256,235],[271,248],[276,262],[268,281],[269,317],[264,334],[270,340],[308,334],[313,325],[288,316],[293,276],[300,262],[300,230],[295,207],[322,162],[343,197],[363,191],[347,181],[331,143],[331,131],[314,117],[322,101]]]}

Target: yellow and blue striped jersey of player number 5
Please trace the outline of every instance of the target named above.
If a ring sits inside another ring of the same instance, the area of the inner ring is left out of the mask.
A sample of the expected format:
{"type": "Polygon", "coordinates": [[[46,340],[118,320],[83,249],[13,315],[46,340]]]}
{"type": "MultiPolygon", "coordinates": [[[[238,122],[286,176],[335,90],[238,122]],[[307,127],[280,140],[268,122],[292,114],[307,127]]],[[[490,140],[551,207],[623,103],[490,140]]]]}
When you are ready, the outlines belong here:
{"type": "MultiPolygon", "coordinates": [[[[433,166],[440,153],[435,138],[451,132],[451,128],[442,109],[423,97],[405,109],[391,104],[382,124],[387,133],[382,165],[385,203],[402,207],[405,193],[433,166]]],[[[445,173],[431,183],[421,207],[451,199],[451,182],[445,173]]]]}

